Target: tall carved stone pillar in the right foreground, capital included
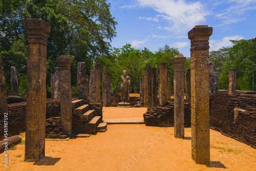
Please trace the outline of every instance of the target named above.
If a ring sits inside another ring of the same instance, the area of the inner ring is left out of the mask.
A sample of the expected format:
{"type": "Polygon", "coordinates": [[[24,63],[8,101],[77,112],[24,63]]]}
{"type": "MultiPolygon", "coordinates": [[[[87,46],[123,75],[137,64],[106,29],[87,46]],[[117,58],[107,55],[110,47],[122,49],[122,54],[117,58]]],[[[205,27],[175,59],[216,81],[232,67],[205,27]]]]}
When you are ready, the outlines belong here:
{"type": "Polygon", "coordinates": [[[191,154],[197,164],[210,162],[209,132],[209,36],[212,27],[195,26],[191,42],[191,154]]]}

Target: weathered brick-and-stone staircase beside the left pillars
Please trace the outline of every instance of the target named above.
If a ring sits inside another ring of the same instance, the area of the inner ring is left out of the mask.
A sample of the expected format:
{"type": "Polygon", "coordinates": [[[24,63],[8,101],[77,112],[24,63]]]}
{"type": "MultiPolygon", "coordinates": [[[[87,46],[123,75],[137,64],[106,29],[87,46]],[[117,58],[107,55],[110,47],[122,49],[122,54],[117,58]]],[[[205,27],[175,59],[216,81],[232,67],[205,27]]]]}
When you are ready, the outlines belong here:
{"type": "Polygon", "coordinates": [[[81,99],[72,101],[72,110],[74,137],[88,137],[90,134],[106,131],[106,123],[102,122],[102,112],[98,112],[99,108],[83,104],[81,99]]]}

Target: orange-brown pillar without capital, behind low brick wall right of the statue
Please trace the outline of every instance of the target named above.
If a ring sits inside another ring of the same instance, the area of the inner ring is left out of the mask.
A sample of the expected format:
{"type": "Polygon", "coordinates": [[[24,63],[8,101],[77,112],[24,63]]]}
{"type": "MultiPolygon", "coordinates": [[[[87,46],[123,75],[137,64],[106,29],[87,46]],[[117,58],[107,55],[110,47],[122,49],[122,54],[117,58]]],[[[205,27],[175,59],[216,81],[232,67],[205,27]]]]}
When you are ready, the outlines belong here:
{"type": "Polygon", "coordinates": [[[160,62],[160,105],[164,106],[167,103],[167,63],[160,62]]]}

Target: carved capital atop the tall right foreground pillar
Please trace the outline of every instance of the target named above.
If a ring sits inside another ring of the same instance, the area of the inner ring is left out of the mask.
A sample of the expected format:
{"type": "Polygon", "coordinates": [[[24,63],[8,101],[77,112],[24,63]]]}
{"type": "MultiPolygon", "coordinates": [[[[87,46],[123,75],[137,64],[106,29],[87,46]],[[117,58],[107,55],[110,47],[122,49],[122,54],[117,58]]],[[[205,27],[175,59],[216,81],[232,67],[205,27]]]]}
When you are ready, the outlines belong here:
{"type": "Polygon", "coordinates": [[[212,27],[207,25],[195,26],[188,32],[188,39],[190,39],[190,52],[194,50],[209,49],[209,37],[212,34],[212,27]]]}

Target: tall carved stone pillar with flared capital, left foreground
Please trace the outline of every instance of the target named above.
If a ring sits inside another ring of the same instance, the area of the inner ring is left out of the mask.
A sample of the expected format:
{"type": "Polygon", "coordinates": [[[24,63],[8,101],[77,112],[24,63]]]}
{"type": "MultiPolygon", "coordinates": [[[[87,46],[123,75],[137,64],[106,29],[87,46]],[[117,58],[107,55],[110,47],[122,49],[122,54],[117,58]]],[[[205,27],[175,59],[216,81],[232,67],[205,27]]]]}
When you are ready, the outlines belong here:
{"type": "Polygon", "coordinates": [[[25,162],[45,156],[46,53],[51,26],[41,19],[23,19],[28,37],[25,162]]]}

